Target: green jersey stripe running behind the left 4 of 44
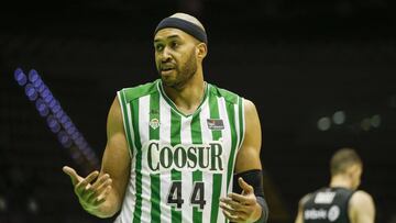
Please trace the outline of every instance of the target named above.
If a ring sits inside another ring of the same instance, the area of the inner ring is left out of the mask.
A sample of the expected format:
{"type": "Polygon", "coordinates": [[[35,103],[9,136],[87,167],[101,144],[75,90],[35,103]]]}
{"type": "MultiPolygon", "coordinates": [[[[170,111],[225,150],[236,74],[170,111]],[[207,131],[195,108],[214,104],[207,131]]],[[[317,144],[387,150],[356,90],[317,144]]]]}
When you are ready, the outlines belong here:
{"type": "MultiPolygon", "coordinates": [[[[170,145],[175,146],[182,143],[180,133],[182,133],[182,116],[177,114],[174,110],[170,110],[170,145]]],[[[172,181],[182,181],[182,172],[175,169],[172,169],[172,181]]],[[[172,222],[179,223],[182,222],[182,211],[176,210],[175,207],[172,207],[172,222]]]]}

